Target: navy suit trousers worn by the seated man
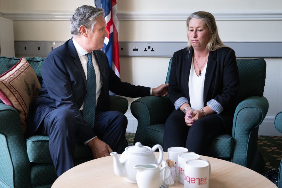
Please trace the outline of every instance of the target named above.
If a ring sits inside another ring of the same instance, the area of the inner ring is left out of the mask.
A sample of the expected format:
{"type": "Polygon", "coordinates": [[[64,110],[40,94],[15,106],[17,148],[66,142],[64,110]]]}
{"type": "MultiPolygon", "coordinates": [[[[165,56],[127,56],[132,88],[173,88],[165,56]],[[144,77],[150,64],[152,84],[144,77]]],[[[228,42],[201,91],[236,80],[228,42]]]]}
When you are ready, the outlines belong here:
{"type": "Polygon", "coordinates": [[[49,150],[58,177],[74,167],[75,142],[83,143],[94,137],[107,143],[113,151],[122,152],[127,118],[117,111],[96,111],[93,130],[77,122],[66,109],[54,109],[44,118],[36,134],[49,136],[49,150]]]}

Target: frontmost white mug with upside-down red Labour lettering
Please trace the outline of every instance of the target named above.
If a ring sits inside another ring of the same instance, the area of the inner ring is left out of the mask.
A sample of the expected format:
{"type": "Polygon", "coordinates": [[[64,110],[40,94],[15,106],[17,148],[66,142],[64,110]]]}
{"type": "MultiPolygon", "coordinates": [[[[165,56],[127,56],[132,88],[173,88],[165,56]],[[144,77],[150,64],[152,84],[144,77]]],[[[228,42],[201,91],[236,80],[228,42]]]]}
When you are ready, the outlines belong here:
{"type": "Polygon", "coordinates": [[[209,188],[211,164],[205,159],[185,162],[184,188],[209,188]]]}

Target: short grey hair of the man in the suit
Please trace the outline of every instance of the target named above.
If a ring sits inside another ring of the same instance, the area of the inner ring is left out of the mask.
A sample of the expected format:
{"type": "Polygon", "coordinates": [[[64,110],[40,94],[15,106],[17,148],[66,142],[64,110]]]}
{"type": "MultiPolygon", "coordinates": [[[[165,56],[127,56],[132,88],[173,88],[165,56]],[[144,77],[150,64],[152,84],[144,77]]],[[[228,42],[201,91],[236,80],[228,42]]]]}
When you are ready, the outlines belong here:
{"type": "Polygon", "coordinates": [[[70,19],[70,33],[71,35],[79,35],[79,27],[85,26],[87,29],[93,30],[96,24],[96,19],[99,16],[105,16],[105,12],[101,8],[94,6],[83,5],[75,9],[73,16],[70,19]]]}

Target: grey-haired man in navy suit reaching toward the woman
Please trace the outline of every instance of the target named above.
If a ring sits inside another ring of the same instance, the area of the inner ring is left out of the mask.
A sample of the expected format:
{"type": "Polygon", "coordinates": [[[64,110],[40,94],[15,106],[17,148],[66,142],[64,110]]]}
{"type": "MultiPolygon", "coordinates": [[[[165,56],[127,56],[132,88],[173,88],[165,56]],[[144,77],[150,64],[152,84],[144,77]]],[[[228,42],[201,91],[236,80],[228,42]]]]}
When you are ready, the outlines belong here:
{"type": "Polygon", "coordinates": [[[127,97],[167,95],[167,84],[151,89],[122,82],[115,75],[105,53],[99,50],[108,36],[104,14],[103,9],[86,5],[75,10],[70,19],[73,37],[46,57],[42,89],[29,108],[28,133],[49,136],[58,176],[74,166],[75,142],[87,144],[94,158],[108,156],[112,151],[122,152],[127,119],[120,112],[109,111],[109,90],[127,97]],[[93,129],[82,115],[88,53],[92,56],[97,85],[93,129]]]}

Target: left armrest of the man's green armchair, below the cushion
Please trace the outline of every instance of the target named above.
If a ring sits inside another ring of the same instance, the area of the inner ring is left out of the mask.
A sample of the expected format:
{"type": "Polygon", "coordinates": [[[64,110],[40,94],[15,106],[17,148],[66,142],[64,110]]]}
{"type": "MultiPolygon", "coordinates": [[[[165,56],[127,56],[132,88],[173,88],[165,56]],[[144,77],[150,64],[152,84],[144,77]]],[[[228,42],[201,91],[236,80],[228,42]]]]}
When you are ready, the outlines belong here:
{"type": "Polygon", "coordinates": [[[19,113],[0,103],[0,181],[30,187],[30,167],[19,113]]]}

